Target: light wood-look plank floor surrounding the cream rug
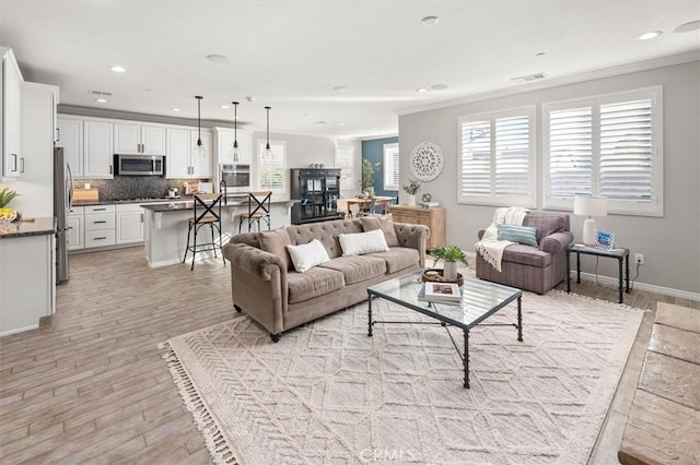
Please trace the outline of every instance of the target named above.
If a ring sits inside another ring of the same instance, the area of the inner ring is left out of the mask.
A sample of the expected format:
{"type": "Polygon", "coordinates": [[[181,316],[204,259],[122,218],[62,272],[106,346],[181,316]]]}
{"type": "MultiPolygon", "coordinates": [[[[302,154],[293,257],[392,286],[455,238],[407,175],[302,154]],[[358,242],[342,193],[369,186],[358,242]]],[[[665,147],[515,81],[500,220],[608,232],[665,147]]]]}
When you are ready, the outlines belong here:
{"type": "MultiPolygon", "coordinates": [[[[142,248],[71,257],[57,313],[42,327],[0,338],[0,462],[209,463],[158,344],[234,318],[221,261],[150,270],[142,248]]],[[[574,290],[617,301],[584,282],[574,290]]],[[[633,290],[655,309],[698,302],[633,290]]],[[[614,462],[651,331],[645,318],[591,463],[614,462]],[[610,458],[612,457],[612,458],[610,458]]]]}

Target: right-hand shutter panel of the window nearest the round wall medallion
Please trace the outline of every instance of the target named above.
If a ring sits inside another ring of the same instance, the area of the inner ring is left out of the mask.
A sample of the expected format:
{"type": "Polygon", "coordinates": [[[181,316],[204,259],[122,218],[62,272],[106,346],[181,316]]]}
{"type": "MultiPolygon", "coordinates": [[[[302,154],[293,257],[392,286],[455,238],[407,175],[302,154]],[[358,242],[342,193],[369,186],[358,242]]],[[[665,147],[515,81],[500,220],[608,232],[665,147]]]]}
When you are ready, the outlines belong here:
{"type": "Polygon", "coordinates": [[[529,195],[529,119],[495,120],[495,195],[529,195]]]}

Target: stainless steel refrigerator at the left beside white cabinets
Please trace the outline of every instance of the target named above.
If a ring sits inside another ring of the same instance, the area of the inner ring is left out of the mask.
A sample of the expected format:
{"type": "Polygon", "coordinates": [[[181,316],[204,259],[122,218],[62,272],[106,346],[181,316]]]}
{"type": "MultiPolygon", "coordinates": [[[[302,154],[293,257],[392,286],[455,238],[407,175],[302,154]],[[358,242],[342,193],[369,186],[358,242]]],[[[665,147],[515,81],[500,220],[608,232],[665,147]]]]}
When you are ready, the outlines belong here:
{"type": "Polygon", "coordinates": [[[54,216],[56,217],[56,284],[68,281],[67,217],[73,206],[73,176],[62,147],[54,148],[54,216]]]}

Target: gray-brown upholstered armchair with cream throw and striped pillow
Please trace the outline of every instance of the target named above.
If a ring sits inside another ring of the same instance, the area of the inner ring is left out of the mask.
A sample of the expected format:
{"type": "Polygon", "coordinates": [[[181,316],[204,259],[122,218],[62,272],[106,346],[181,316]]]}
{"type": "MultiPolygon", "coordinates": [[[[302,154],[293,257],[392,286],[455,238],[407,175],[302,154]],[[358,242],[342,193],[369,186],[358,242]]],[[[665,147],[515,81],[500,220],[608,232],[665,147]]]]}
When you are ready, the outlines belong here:
{"type": "MultiPolygon", "coordinates": [[[[573,241],[569,215],[529,212],[523,226],[537,228],[538,247],[514,243],[503,252],[501,271],[477,252],[477,277],[518,289],[546,294],[567,278],[567,247],[573,241]]],[[[485,230],[480,230],[479,240],[485,230]]]]}

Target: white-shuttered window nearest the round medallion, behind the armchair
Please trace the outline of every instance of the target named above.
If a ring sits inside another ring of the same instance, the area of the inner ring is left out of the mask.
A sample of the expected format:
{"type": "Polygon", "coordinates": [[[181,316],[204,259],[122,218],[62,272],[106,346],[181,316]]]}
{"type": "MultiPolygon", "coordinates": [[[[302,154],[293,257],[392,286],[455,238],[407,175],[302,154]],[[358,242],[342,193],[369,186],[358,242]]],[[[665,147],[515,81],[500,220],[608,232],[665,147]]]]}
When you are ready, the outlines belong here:
{"type": "Polygon", "coordinates": [[[459,118],[459,203],[535,206],[535,107],[459,118]]]}

